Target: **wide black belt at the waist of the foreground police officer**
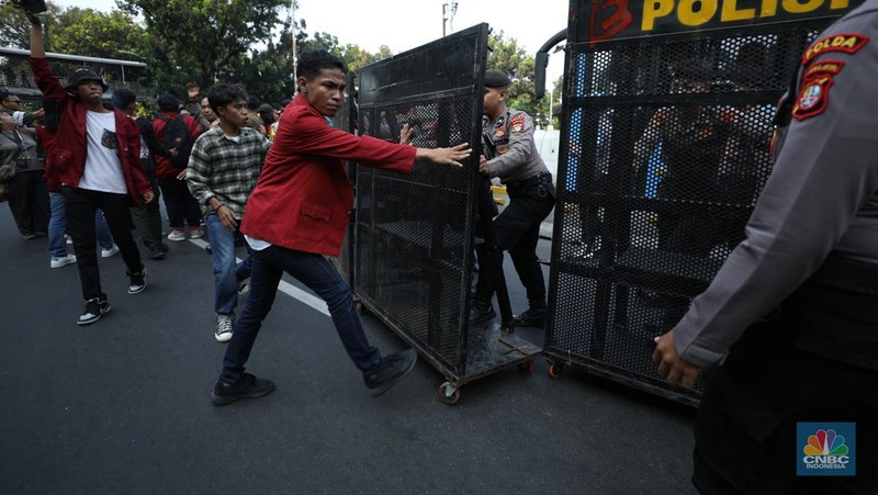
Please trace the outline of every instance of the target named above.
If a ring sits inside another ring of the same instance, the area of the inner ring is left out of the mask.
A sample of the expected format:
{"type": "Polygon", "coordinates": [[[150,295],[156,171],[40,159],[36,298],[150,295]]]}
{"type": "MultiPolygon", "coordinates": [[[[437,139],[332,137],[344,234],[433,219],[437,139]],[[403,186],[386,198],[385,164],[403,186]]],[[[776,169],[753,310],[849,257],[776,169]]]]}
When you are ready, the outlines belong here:
{"type": "Polygon", "coordinates": [[[777,312],[799,322],[799,350],[878,371],[876,307],[878,265],[831,256],[777,312]]]}

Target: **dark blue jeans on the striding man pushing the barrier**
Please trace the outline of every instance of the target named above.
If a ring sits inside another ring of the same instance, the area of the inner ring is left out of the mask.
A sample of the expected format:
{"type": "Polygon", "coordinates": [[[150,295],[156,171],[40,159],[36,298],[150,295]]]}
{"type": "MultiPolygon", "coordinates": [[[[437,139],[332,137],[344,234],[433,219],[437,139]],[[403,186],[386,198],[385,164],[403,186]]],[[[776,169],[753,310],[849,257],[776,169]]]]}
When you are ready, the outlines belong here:
{"type": "Polygon", "coordinates": [[[284,271],[326,301],[341,344],[357,368],[370,373],[381,367],[384,360],[365,338],[348,282],[326,258],[280,246],[254,251],[252,258],[250,292],[226,348],[221,380],[234,383],[244,374],[244,364],[250,357],[262,320],[271,311],[284,271]]]}

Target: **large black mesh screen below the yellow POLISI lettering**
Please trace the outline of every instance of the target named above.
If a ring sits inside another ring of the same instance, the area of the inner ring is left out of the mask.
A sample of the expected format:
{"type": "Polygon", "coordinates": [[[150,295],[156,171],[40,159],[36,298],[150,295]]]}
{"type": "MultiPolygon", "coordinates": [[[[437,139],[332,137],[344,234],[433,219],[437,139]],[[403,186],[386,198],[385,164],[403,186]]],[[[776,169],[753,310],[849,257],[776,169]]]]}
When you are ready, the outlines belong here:
{"type": "Polygon", "coordinates": [[[567,45],[547,355],[687,400],[653,337],[744,238],[813,24],[567,45]]]}

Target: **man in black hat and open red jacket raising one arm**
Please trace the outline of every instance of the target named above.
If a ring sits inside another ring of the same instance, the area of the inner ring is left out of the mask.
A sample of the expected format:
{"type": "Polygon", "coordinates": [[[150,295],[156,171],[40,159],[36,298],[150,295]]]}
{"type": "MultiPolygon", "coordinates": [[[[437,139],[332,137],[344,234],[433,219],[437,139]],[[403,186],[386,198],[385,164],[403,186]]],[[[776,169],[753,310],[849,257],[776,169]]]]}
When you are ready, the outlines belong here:
{"type": "Polygon", "coordinates": [[[128,207],[154,199],[149,179],[140,167],[140,130],[112,105],[104,106],[106,85],[88,67],[76,67],[61,87],[48,67],[43,44],[43,25],[36,14],[31,21],[31,68],[43,95],[58,108],[60,123],[56,144],[49,150],[49,180],[61,184],[67,209],[67,230],[74,239],[79,280],[86,311],[77,324],[88,325],[110,311],[101,291],[94,214],[101,209],[110,232],[125,260],[128,294],[146,288],[146,270],[131,234],[128,207]]]}

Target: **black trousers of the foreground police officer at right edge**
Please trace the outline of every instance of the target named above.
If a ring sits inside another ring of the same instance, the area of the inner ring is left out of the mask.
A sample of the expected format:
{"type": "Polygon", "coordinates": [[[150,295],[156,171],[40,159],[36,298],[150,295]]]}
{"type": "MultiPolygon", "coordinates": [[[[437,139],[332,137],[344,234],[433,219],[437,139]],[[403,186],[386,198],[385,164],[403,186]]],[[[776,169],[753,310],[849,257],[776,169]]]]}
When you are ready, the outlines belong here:
{"type": "Polygon", "coordinates": [[[871,292],[809,281],[706,373],[696,488],[878,493],[878,284],[871,292]],[[797,423],[854,423],[856,476],[797,476],[797,423]]]}

